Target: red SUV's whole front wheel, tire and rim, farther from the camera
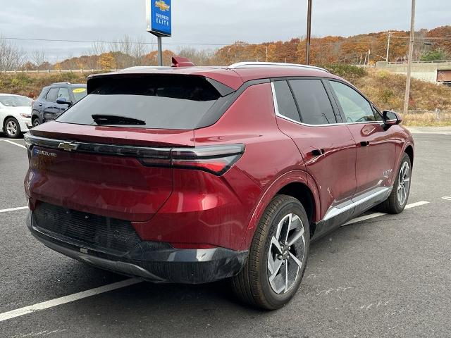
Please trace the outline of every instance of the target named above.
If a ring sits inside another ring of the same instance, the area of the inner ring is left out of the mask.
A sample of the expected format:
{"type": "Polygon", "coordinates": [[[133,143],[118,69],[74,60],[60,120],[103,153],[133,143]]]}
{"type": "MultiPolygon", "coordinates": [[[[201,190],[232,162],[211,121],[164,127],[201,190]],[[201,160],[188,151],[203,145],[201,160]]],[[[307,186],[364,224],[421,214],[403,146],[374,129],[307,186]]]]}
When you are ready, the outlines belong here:
{"type": "Polygon", "coordinates": [[[409,199],[410,175],[412,173],[412,163],[409,155],[402,156],[400,168],[397,170],[393,190],[388,199],[379,204],[376,208],[383,213],[401,213],[409,199]]]}

